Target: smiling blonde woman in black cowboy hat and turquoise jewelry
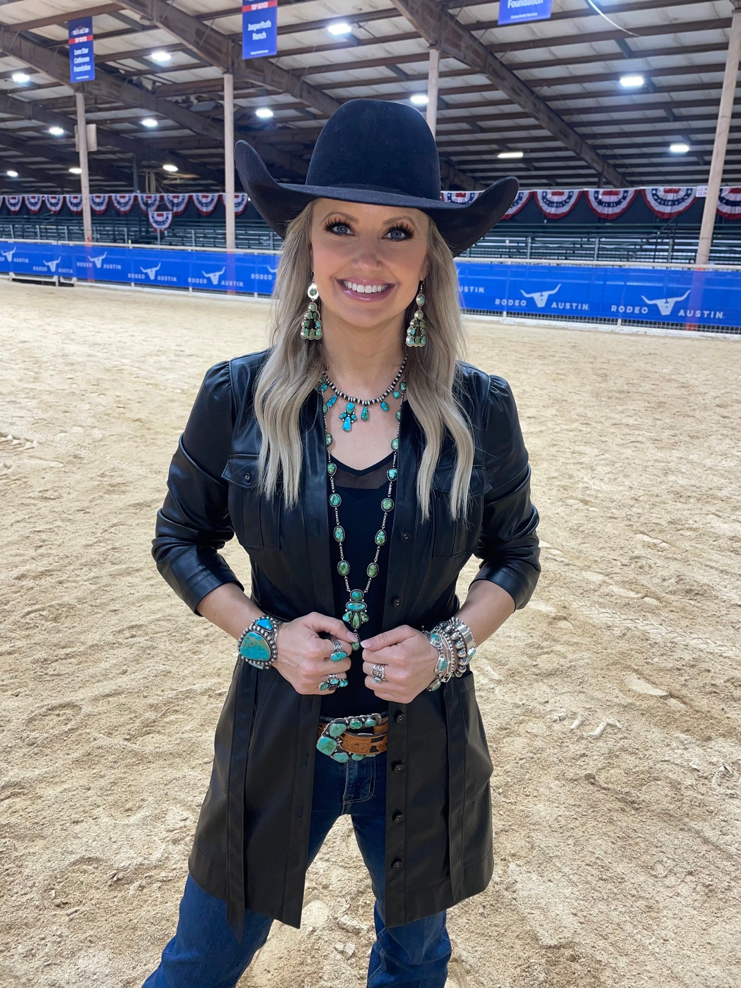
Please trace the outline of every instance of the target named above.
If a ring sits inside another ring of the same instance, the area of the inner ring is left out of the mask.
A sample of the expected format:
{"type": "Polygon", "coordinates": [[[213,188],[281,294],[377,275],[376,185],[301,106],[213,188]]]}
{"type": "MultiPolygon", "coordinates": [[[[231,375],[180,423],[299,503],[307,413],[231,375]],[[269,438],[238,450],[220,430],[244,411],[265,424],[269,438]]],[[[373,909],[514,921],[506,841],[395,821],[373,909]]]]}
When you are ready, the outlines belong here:
{"type": "Polygon", "coordinates": [[[330,118],[305,186],[242,141],[237,167],[285,244],[271,346],[206,372],[157,516],[160,573],[238,651],[177,933],[145,985],[233,986],[274,919],[300,925],[306,868],[349,813],[369,986],[442,988],[446,910],[493,869],[470,661],[539,574],[512,391],[458,360],[453,255],[517,181],[441,202],[424,119],[375,100],[330,118]],[[217,551],[235,533],[251,598],[217,551]]]}

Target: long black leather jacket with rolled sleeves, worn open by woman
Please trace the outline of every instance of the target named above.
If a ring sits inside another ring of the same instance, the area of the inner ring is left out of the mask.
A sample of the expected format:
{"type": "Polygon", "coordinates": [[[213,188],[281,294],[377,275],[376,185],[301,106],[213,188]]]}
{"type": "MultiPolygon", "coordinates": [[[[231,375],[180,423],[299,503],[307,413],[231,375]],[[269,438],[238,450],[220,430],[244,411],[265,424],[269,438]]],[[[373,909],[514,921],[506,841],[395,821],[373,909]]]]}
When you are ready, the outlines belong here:
{"type": "MultiPolygon", "coordinates": [[[[304,402],[298,507],[256,490],[260,431],[252,388],[267,351],[206,372],[157,514],[152,555],[191,610],[233,581],[218,553],[236,534],[250,556],[252,597],[292,619],[332,615],[326,453],[318,393],[304,402]]],[[[448,443],[435,472],[432,513],[415,492],[424,436],[409,405],[399,437],[395,508],[387,541],[383,628],[432,626],[457,610],[455,581],[471,554],[475,577],[504,587],[517,608],[540,572],[530,464],[507,381],[460,364],[456,388],[475,453],[467,521],[446,505],[453,478],[448,443]]],[[[475,658],[472,668],[475,670],[475,658]]],[[[493,771],[475,699],[474,674],[389,709],[386,776],[386,915],[399,926],[482,891],[493,870],[489,778],[493,771]]],[[[227,903],[241,938],[244,907],[300,925],[321,698],[297,694],[277,670],[239,659],[216,727],[214,759],[189,867],[227,903]],[[255,743],[252,743],[253,737],[255,743]]]]}

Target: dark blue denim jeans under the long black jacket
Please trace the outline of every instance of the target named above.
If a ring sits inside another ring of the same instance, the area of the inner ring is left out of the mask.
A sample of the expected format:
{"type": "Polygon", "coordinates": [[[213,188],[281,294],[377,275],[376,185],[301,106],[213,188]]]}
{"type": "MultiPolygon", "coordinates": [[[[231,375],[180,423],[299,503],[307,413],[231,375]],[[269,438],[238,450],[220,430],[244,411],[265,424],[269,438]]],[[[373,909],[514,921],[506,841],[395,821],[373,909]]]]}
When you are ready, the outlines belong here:
{"type": "MultiPolygon", "coordinates": [[[[385,752],[344,764],[316,753],[309,864],[338,816],[349,813],[375,896],[368,988],[444,988],[451,957],[445,910],[403,926],[383,926],[385,778],[385,752]]],[[[237,943],[226,922],[226,904],[189,875],[175,937],[143,988],[234,988],[272,925],[270,917],[247,909],[237,943]]]]}

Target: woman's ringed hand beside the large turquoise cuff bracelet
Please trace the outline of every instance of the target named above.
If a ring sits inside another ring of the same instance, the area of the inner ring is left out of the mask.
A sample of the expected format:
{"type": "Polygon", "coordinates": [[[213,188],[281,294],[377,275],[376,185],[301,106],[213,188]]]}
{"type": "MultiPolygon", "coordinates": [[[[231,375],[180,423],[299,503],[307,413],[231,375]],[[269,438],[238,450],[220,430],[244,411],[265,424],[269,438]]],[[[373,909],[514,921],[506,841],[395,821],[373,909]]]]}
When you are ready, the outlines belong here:
{"type": "Polygon", "coordinates": [[[303,617],[282,624],[276,635],[278,658],[273,666],[303,696],[333,693],[338,689],[322,691],[319,684],[332,673],[346,673],[350,669],[351,644],[357,636],[337,617],[327,617],[315,611],[303,617]],[[338,641],[345,643],[343,651],[347,658],[339,662],[330,661],[334,653],[330,638],[320,638],[319,632],[326,631],[338,641]]]}

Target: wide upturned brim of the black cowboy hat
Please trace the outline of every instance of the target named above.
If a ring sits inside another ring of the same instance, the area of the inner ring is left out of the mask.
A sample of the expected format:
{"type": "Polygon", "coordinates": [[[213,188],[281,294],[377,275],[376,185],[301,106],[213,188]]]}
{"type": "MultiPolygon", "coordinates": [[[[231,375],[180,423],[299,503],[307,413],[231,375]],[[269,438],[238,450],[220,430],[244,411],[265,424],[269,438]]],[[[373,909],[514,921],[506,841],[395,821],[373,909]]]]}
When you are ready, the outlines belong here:
{"type": "Polygon", "coordinates": [[[462,254],[495,226],[515,201],[520,183],[514,176],[499,179],[472,203],[446,203],[391,193],[382,189],[344,186],[309,186],[276,182],[255,148],[237,141],[234,160],[244,191],[266,223],[280,237],[286,236],[291,219],[312,199],[334,199],[373,206],[406,206],[420,209],[435,220],[453,257],[462,254]]]}

